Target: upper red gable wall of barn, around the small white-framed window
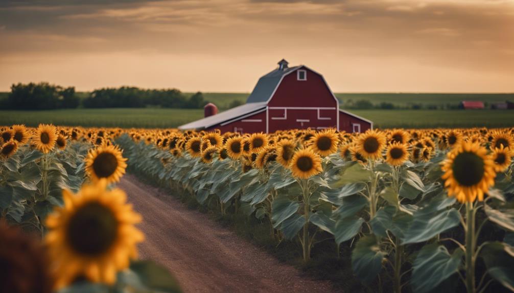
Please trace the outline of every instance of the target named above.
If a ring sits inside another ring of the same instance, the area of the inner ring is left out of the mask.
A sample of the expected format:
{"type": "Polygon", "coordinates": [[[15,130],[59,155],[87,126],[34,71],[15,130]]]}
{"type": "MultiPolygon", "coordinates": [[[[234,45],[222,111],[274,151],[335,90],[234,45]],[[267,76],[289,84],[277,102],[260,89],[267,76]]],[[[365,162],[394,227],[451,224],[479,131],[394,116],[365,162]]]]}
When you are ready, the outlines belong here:
{"type": "Polygon", "coordinates": [[[307,80],[297,80],[297,70],[284,76],[268,103],[269,107],[337,107],[337,102],[322,76],[307,71],[307,80]]]}

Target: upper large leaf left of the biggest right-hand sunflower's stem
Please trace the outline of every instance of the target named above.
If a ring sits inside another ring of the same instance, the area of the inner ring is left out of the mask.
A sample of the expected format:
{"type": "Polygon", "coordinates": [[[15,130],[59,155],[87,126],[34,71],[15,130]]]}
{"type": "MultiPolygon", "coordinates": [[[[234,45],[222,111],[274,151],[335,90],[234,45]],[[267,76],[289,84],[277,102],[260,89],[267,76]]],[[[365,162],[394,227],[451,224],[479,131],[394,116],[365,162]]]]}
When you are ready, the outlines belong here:
{"type": "Polygon", "coordinates": [[[455,208],[436,213],[417,211],[414,213],[402,244],[427,241],[458,224],[460,224],[460,215],[455,208]]]}

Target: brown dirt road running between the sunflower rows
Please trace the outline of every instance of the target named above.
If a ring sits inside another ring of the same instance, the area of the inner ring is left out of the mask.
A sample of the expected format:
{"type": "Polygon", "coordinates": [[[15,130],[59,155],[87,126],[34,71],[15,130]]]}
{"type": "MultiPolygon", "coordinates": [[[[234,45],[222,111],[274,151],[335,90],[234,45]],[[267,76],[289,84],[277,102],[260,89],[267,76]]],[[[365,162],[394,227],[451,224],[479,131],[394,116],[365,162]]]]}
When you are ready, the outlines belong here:
{"type": "Polygon", "coordinates": [[[144,219],[140,257],[168,267],[185,292],[334,291],[132,175],[118,186],[144,219]]]}

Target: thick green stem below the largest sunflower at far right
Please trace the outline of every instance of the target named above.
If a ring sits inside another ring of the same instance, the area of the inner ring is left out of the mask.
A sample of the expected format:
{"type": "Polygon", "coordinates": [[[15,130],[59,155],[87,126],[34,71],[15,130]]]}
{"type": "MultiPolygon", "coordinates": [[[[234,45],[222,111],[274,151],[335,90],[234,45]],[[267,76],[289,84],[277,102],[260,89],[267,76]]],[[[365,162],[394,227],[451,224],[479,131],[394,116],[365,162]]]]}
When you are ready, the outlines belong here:
{"type": "Polygon", "coordinates": [[[466,202],[466,289],[475,293],[475,214],[473,203],[466,202]]]}

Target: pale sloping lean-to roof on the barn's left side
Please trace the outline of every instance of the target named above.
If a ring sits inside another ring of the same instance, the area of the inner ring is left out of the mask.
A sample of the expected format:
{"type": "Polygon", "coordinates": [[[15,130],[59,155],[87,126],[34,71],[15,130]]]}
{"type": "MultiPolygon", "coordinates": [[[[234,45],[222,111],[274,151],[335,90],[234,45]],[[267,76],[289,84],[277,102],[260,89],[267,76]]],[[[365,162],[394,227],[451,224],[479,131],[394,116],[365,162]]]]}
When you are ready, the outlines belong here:
{"type": "Polygon", "coordinates": [[[193,121],[191,123],[180,125],[178,127],[178,129],[182,129],[182,130],[205,129],[205,128],[211,127],[213,125],[228,121],[230,119],[238,118],[238,117],[250,114],[252,112],[259,111],[264,108],[266,108],[266,102],[248,103],[248,104],[241,105],[239,107],[229,109],[227,111],[223,111],[216,115],[212,115],[212,116],[200,119],[200,120],[193,121]]]}

